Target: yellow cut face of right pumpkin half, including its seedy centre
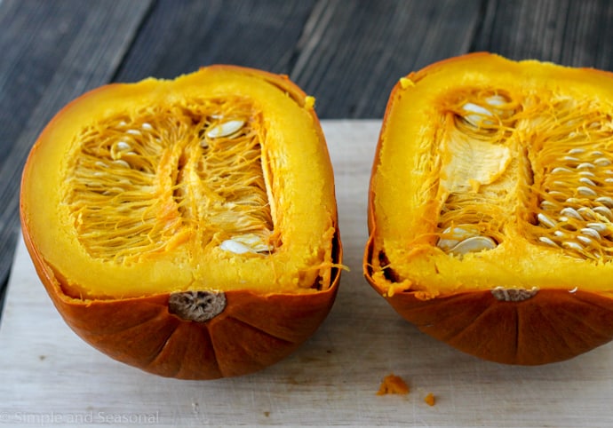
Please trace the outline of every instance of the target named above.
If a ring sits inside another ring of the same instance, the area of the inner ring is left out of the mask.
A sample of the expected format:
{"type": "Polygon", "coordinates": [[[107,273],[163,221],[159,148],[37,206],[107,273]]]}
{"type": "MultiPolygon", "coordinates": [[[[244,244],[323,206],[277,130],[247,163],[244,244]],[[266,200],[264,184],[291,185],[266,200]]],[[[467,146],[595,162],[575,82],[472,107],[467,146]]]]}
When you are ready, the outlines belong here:
{"type": "Polygon", "coordinates": [[[387,118],[373,180],[378,281],[425,298],[609,291],[611,77],[497,57],[446,67],[405,80],[387,118]],[[475,236],[471,250],[458,245],[475,236]]]}

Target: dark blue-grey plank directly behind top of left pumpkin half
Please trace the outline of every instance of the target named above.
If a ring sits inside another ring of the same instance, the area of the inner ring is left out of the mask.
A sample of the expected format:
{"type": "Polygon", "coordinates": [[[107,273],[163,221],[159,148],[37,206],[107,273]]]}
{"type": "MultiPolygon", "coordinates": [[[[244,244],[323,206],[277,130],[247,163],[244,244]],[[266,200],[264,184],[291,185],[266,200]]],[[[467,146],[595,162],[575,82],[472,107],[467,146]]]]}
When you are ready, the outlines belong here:
{"type": "Polygon", "coordinates": [[[114,80],[173,78],[210,64],[289,74],[312,0],[159,0],[114,80]]]}

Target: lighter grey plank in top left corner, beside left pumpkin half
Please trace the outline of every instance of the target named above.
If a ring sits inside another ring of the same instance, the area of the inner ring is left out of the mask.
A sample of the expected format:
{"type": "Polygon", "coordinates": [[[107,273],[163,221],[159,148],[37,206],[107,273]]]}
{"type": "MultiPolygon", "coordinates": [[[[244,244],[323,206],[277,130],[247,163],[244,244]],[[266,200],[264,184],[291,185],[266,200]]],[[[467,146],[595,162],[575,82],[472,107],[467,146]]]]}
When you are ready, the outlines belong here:
{"type": "Polygon", "coordinates": [[[0,283],[19,232],[20,175],[28,152],[61,107],[107,83],[129,48],[149,2],[0,4],[0,283]],[[110,7],[109,7],[110,6],[110,7]],[[27,28],[27,31],[26,31],[27,28]]]}

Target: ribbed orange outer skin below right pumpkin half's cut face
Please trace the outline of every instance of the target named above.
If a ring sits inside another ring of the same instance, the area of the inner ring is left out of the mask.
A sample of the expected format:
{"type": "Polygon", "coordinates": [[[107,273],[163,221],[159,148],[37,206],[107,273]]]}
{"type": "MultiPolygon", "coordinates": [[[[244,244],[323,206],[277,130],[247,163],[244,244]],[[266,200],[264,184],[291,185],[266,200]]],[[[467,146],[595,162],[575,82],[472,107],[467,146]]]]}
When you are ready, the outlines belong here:
{"type": "MultiPolygon", "coordinates": [[[[368,261],[366,261],[368,264],[368,261]]],[[[366,279],[385,291],[365,267],[366,279]]],[[[569,360],[613,339],[613,301],[595,293],[541,290],[521,302],[500,301],[491,291],[422,300],[414,292],[385,297],[419,330],[483,360],[541,365],[569,360]]]]}

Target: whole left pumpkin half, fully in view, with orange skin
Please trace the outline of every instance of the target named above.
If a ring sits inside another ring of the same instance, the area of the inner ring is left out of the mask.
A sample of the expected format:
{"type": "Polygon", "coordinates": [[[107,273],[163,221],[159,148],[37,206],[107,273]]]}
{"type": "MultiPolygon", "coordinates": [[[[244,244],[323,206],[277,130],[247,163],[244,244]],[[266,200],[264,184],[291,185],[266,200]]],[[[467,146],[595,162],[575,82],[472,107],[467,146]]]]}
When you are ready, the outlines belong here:
{"type": "Polygon", "coordinates": [[[161,376],[267,367],[337,292],[330,158],[283,75],[211,66],[84,94],[32,148],[20,216],[68,325],[161,376]]]}

